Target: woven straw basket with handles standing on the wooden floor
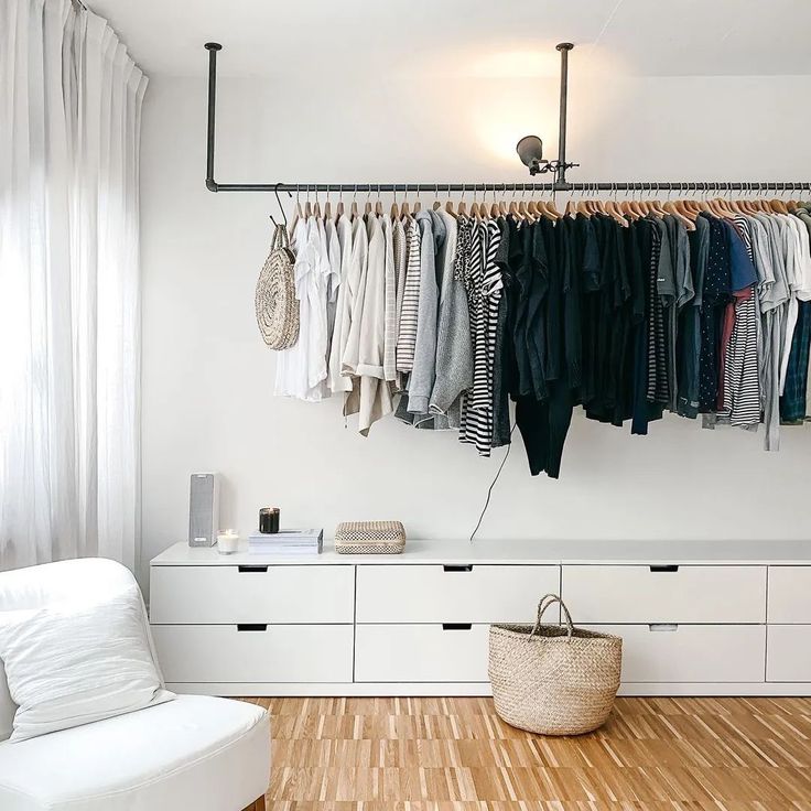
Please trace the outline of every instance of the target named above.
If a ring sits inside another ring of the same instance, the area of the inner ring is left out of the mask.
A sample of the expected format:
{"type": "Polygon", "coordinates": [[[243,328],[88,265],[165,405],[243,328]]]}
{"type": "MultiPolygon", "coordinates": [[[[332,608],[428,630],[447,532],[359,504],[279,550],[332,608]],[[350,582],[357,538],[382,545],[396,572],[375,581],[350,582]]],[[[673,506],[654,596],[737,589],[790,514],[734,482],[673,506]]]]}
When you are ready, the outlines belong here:
{"type": "Polygon", "coordinates": [[[542,735],[582,735],[605,723],[614,706],[623,640],[572,625],[563,601],[548,594],[531,625],[490,626],[489,675],[498,715],[542,735]],[[565,627],[541,625],[560,603],[565,627]]]}

